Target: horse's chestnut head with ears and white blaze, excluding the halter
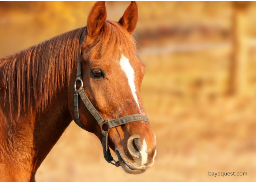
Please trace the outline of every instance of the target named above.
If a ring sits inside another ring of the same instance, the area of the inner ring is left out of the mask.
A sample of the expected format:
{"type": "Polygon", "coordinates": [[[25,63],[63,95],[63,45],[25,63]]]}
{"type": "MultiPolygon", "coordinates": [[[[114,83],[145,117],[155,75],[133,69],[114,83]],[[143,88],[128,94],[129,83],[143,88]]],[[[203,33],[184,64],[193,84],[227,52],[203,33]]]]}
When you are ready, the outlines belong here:
{"type": "MultiPolygon", "coordinates": [[[[99,114],[108,120],[146,114],[140,97],[145,66],[136,55],[131,36],[137,20],[134,1],[118,23],[106,21],[104,1],[95,3],[88,17],[87,36],[81,46],[84,90],[99,114]]],[[[79,104],[79,115],[86,130],[101,140],[99,125],[83,104],[79,104]]],[[[125,172],[139,174],[154,163],[155,139],[147,122],[136,121],[112,128],[108,143],[125,172]]]]}

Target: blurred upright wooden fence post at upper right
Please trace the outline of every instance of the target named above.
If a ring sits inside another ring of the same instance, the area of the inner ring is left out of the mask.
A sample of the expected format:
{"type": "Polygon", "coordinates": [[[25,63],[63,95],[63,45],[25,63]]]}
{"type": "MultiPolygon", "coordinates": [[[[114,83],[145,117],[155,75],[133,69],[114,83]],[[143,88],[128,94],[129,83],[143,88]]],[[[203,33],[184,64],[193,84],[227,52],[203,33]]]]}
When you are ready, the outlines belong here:
{"type": "Polygon", "coordinates": [[[245,95],[247,91],[248,38],[246,10],[249,1],[233,1],[233,55],[230,68],[230,93],[245,95]]]}

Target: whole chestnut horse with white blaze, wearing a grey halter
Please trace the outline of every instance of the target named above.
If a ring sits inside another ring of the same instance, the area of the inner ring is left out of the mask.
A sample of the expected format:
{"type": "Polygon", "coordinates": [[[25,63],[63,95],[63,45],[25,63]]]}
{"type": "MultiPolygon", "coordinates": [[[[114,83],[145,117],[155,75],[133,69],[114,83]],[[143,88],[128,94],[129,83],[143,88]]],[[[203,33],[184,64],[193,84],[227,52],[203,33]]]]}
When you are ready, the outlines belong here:
{"type": "Polygon", "coordinates": [[[107,162],[126,173],[153,165],[156,137],[140,96],[146,67],[132,37],[138,5],[131,1],[118,22],[106,15],[105,1],[97,1],[86,27],[0,59],[1,182],[34,182],[72,120],[95,134],[107,162]]]}

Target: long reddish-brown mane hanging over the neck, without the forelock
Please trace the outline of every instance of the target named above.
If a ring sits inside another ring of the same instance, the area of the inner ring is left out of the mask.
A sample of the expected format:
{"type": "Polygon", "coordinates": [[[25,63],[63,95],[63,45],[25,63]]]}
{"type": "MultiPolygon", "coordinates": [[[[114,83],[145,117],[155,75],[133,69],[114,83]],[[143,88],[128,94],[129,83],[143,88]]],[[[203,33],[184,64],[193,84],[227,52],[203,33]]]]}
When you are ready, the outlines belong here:
{"type": "Polygon", "coordinates": [[[0,59],[5,98],[8,92],[10,113],[18,105],[32,111],[33,102],[43,111],[54,93],[68,81],[78,59],[79,40],[84,28],[53,37],[12,56],[0,59]]]}

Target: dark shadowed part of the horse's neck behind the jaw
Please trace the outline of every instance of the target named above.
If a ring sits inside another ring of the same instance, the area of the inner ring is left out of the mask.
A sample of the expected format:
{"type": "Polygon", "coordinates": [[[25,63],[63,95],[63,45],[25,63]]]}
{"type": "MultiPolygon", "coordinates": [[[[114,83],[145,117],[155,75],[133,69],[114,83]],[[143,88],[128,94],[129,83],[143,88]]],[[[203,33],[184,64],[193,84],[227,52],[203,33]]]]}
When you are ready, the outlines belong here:
{"type": "Polygon", "coordinates": [[[59,92],[49,108],[43,114],[37,113],[35,118],[33,135],[34,150],[37,152],[34,159],[38,160],[35,163],[37,167],[72,121],[67,99],[64,98],[67,98],[67,91],[61,94],[59,92]]]}

